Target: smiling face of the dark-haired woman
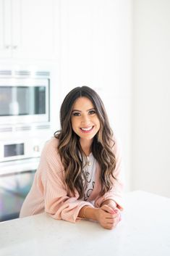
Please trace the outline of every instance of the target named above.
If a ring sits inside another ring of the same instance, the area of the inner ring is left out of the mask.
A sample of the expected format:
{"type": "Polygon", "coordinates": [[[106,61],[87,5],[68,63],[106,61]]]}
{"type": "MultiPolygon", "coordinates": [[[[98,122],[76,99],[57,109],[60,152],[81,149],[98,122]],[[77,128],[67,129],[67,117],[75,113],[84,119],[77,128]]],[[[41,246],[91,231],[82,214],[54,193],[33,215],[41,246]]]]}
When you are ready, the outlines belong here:
{"type": "Polygon", "coordinates": [[[100,129],[100,120],[90,99],[78,98],[72,107],[72,129],[81,140],[92,140],[100,129]]]}

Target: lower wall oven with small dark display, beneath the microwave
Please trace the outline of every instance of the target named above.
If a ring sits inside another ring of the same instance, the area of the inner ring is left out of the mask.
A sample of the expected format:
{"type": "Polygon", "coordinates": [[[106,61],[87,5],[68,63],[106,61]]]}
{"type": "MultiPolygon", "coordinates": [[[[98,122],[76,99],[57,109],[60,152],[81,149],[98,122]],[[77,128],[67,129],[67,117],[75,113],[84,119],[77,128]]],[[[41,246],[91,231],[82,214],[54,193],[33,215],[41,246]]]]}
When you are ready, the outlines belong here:
{"type": "Polygon", "coordinates": [[[48,139],[41,130],[0,133],[0,221],[18,218],[48,139]]]}

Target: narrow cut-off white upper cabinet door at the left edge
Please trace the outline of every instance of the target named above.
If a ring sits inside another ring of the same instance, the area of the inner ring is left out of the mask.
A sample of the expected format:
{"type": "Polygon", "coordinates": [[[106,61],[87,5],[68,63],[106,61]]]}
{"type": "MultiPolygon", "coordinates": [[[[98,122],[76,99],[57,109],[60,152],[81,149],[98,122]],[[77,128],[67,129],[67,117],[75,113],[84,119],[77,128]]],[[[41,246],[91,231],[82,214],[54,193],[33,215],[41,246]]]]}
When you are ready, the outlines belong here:
{"type": "Polygon", "coordinates": [[[11,0],[0,0],[0,57],[12,56],[11,0]]]}

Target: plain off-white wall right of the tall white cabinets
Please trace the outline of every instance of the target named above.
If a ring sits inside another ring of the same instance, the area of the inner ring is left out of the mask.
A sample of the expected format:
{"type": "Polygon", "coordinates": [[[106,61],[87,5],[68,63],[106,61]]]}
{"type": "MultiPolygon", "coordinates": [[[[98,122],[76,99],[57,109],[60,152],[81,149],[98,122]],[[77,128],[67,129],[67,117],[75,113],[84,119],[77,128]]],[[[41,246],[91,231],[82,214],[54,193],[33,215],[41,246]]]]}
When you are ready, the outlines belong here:
{"type": "Polygon", "coordinates": [[[170,197],[170,1],[133,3],[132,189],[170,197]]]}

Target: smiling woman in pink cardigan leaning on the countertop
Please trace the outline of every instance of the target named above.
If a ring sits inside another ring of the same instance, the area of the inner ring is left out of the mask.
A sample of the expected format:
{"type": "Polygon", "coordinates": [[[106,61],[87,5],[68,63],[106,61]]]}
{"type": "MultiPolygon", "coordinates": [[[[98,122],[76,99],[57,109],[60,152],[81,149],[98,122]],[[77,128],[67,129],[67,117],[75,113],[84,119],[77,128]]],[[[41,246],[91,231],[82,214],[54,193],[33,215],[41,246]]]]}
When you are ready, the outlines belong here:
{"type": "Polygon", "coordinates": [[[101,98],[88,86],[67,94],[61,131],[46,143],[20,217],[47,212],[55,219],[121,220],[121,157],[101,98]]]}

